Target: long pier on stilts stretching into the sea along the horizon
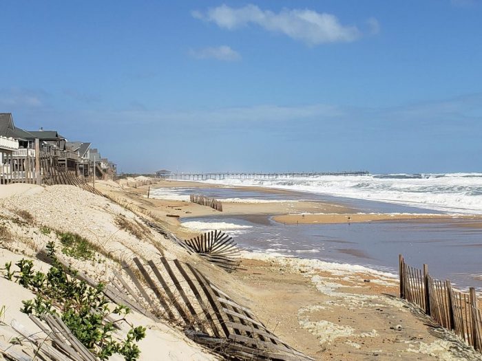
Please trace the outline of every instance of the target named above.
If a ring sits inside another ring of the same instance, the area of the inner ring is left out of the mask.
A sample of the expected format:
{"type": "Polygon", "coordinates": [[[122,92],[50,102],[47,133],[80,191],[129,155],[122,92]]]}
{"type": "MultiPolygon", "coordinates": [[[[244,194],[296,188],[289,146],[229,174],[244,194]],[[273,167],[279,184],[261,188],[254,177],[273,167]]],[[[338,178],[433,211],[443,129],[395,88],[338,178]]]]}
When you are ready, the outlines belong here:
{"type": "Polygon", "coordinates": [[[368,171],[344,171],[344,172],[288,172],[288,173],[240,173],[240,172],[220,172],[220,173],[170,173],[167,179],[177,180],[222,180],[222,179],[289,179],[289,178],[315,178],[326,175],[336,176],[356,176],[370,175],[368,171]]]}

